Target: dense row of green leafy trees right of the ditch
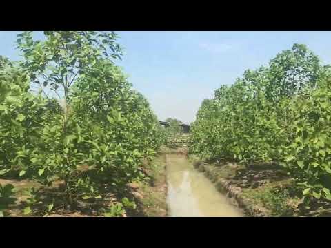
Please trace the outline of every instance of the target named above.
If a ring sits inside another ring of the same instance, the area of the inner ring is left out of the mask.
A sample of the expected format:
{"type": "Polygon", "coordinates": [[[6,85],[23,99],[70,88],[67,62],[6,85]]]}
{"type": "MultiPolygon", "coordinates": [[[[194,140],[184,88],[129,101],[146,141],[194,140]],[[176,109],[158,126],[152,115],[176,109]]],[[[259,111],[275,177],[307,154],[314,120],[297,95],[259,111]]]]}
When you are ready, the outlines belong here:
{"type": "Polygon", "coordinates": [[[203,101],[191,128],[201,157],[276,163],[305,199],[331,200],[331,80],[328,66],[294,44],[203,101]]]}

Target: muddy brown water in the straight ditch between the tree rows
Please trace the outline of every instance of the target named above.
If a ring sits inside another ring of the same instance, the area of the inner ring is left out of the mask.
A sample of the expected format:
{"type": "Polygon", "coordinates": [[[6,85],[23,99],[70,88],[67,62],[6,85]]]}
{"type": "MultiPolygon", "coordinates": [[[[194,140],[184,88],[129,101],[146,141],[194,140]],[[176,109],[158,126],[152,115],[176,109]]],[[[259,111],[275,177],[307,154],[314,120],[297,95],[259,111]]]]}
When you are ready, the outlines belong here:
{"type": "Polygon", "coordinates": [[[241,211],[194,169],[185,156],[167,154],[168,216],[239,217],[241,211]]]}

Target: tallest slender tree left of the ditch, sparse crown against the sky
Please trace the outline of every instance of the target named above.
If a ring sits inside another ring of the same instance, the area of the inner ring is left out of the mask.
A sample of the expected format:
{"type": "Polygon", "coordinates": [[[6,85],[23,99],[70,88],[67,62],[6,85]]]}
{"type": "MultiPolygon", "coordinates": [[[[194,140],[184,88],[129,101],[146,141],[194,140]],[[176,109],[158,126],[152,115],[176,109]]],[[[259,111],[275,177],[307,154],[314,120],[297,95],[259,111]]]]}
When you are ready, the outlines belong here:
{"type": "MultiPolygon", "coordinates": [[[[43,137],[30,151],[32,164],[25,164],[23,172],[37,170],[42,176],[39,180],[46,184],[52,183],[53,174],[56,174],[64,180],[67,200],[73,204],[72,192],[83,188],[79,184],[89,179],[75,175],[84,156],[77,149],[83,137],[70,105],[72,85],[92,73],[97,61],[106,60],[113,64],[111,58],[119,57],[121,49],[114,42],[117,38],[114,32],[52,31],[44,32],[44,35],[45,41],[34,41],[32,32],[18,35],[17,47],[24,57],[21,67],[32,83],[40,85],[47,99],[50,97],[45,87],[64,100],[63,112],[43,123],[43,137]]],[[[94,192],[94,187],[89,189],[94,192]]]]}

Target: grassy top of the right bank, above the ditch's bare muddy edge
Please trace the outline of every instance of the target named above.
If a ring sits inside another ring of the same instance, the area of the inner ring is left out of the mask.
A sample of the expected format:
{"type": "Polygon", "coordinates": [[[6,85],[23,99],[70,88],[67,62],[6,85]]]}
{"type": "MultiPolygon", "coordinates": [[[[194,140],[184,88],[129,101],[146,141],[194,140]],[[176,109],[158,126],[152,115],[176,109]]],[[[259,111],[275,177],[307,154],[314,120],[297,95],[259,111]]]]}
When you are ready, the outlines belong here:
{"type": "Polygon", "coordinates": [[[294,182],[279,169],[270,168],[270,165],[248,167],[226,161],[199,161],[196,156],[190,156],[190,159],[199,171],[216,183],[219,191],[223,192],[221,179],[240,188],[237,194],[248,200],[246,207],[250,205],[256,211],[265,211],[267,216],[297,216],[300,199],[294,194],[294,182]]]}

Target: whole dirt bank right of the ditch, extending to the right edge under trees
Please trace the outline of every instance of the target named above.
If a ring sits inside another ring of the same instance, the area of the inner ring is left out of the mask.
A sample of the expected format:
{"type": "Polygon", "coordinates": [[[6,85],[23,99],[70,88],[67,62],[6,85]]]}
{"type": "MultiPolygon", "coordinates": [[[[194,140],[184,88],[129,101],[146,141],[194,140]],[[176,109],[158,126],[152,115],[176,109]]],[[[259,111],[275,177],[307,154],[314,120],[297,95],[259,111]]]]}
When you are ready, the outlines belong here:
{"type": "Polygon", "coordinates": [[[194,155],[190,161],[247,216],[331,216],[329,201],[304,205],[294,180],[276,165],[201,161],[194,155]]]}

